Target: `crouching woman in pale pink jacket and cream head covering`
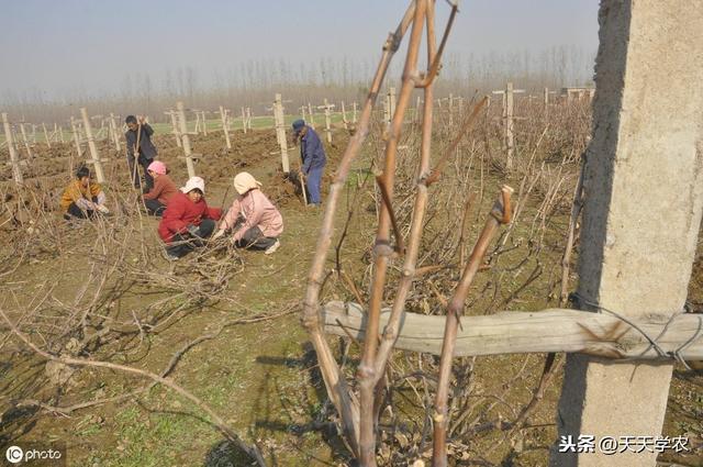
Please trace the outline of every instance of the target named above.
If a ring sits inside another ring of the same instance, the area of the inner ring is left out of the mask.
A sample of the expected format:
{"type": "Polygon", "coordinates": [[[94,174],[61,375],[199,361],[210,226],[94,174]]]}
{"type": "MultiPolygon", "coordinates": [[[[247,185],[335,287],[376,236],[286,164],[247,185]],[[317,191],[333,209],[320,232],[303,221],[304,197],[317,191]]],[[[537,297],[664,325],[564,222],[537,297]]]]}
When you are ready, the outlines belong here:
{"type": "Polygon", "coordinates": [[[246,171],[234,177],[237,197],[213,240],[232,231],[232,240],[239,248],[263,249],[267,255],[278,249],[278,237],[283,232],[283,218],[259,188],[261,184],[246,171]]]}

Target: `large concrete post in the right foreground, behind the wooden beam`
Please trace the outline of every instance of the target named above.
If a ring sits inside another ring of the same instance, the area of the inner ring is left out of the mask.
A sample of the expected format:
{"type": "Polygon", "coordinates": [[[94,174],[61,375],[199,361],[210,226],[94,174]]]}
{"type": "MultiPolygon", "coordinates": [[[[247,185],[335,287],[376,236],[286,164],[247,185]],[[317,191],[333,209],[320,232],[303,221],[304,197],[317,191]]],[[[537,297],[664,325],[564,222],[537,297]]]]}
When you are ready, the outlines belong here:
{"type": "MultiPolygon", "coordinates": [[[[703,3],[602,0],[599,22],[578,294],[666,321],[685,302],[703,208],[703,3]]],[[[559,435],[660,435],[671,370],[569,355],[559,435]]],[[[657,465],[648,449],[558,451],[553,466],[657,465]]]]}

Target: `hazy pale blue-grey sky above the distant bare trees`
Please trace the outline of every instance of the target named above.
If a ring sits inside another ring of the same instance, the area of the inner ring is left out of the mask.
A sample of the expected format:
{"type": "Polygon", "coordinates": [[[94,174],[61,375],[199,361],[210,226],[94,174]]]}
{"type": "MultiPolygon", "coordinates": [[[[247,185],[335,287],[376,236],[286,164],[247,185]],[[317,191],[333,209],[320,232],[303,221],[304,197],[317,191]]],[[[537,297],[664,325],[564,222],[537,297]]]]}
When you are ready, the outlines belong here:
{"type": "MultiPolygon", "coordinates": [[[[126,75],[379,56],[408,0],[0,0],[0,92],[112,91],[126,75]]],[[[438,19],[449,10],[437,2],[438,19]]],[[[598,46],[598,0],[462,0],[448,53],[598,46]]],[[[442,23],[440,23],[442,24],[442,23]]],[[[438,33],[442,27],[438,27],[438,33]]]]}

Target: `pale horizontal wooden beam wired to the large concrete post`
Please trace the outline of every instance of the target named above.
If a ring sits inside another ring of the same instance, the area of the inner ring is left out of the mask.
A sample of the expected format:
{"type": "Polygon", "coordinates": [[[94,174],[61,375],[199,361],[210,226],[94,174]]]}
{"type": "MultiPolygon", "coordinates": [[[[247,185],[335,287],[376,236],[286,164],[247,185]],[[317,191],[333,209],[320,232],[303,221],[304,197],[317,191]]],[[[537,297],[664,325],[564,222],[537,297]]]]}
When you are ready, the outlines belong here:
{"type": "MultiPolygon", "coordinates": [[[[389,314],[389,309],[381,312],[381,332],[389,314]]],[[[323,307],[322,315],[327,333],[364,340],[366,313],[357,303],[328,302],[323,307]]],[[[401,321],[395,348],[439,355],[445,316],[405,313],[401,321]]],[[[681,348],[679,355],[684,359],[703,359],[703,314],[679,314],[668,325],[669,318],[657,314],[628,321],[656,338],[665,352],[681,348]]],[[[606,358],[667,358],[660,356],[639,331],[620,318],[567,309],[464,316],[455,356],[545,352],[606,358]]]]}

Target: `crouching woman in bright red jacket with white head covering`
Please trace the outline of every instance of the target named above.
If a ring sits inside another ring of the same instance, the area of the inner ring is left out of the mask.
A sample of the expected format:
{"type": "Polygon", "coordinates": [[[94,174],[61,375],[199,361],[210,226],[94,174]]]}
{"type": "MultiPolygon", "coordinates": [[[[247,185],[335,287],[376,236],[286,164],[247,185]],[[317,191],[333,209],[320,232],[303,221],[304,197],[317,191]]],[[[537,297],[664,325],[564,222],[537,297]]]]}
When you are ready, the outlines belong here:
{"type": "Polygon", "coordinates": [[[166,258],[175,260],[204,245],[215,229],[215,221],[222,215],[219,208],[210,208],[204,199],[205,182],[200,177],[191,177],[180,192],[168,200],[158,235],[166,242],[166,258]]]}

